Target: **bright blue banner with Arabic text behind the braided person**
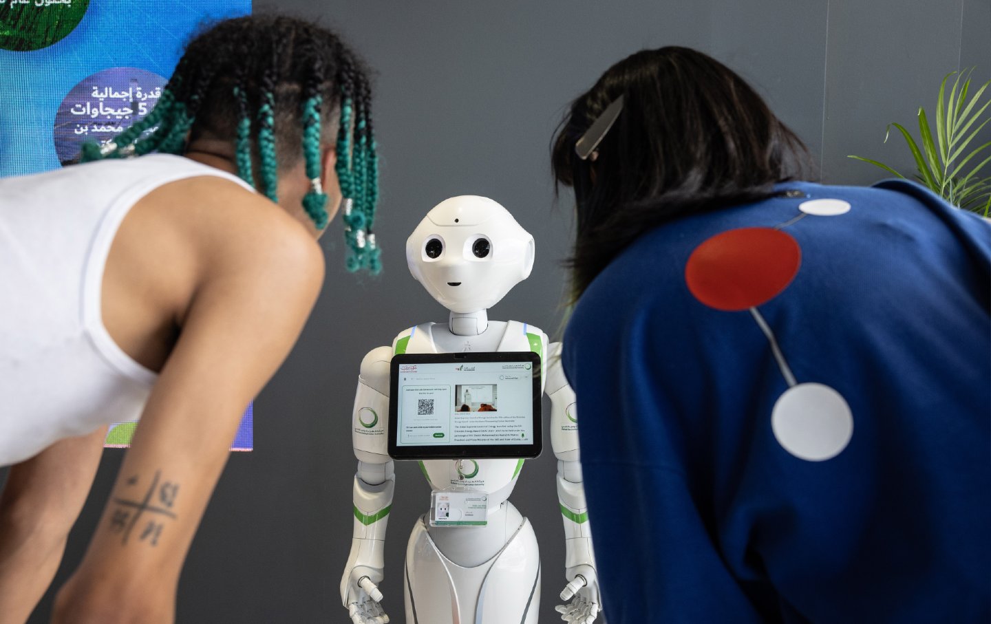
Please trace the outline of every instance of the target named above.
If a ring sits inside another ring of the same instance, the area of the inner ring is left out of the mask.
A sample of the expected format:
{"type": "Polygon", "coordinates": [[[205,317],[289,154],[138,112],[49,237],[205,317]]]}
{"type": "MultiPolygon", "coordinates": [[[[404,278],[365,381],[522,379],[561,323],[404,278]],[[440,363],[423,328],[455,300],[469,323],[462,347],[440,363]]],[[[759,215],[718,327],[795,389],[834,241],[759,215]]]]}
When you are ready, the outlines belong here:
{"type": "MultiPolygon", "coordinates": [[[[0,0],[0,177],[54,169],[155,107],[191,35],[251,0],[0,0]]],[[[136,423],[115,424],[127,446],[136,423]]],[[[254,445],[249,405],[232,450],[254,445]]]]}

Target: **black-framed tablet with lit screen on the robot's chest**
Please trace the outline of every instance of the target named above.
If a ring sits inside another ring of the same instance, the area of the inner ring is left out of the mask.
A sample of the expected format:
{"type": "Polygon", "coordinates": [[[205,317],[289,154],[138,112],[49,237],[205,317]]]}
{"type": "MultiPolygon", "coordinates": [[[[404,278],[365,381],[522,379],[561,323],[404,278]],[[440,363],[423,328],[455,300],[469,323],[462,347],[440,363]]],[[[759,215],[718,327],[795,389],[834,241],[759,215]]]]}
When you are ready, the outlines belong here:
{"type": "Polygon", "coordinates": [[[535,458],[540,357],[532,352],[392,357],[388,455],[395,460],[535,458]]]}

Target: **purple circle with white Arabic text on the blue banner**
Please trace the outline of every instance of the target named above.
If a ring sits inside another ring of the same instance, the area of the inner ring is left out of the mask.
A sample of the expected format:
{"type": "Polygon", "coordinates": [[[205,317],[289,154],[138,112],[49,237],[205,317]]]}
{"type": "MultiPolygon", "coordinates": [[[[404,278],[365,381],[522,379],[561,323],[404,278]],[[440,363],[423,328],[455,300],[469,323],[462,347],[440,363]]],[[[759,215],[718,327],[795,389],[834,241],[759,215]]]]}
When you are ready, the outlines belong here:
{"type": "Polygon", "coordinates": [[[111,67],[83,78],[55,113],[55,153],[62,164],[79,157],[82,144],[112,141],[155,108],[164,77],[138,67],[111,67]]]}

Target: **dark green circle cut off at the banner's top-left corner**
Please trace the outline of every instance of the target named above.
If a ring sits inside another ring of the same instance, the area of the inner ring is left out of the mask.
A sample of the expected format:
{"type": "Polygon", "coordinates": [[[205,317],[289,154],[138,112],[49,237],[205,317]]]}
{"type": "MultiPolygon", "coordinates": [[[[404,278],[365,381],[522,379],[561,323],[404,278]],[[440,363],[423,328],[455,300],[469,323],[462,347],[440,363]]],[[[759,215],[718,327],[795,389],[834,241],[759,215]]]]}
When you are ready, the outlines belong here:
{"type": "Polygon", "coordinates": [[[0,50],[32,52],[60,42],[79,26],[89,0],[0,2],[0,50]]]}

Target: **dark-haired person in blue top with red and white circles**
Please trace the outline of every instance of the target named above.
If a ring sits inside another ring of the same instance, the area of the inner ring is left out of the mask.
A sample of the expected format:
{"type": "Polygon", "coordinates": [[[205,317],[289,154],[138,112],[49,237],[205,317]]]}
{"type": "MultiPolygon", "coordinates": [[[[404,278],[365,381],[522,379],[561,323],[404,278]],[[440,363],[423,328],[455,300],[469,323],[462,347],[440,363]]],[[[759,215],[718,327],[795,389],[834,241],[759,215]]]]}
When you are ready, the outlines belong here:
{"type": "Polygon", "coordinates": [[[552,153],[606,621],[987,621],[991,226],[806,181],[684,48],[606,70],[552,153]]]}

